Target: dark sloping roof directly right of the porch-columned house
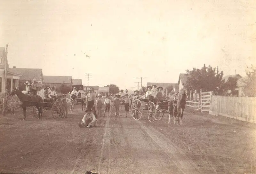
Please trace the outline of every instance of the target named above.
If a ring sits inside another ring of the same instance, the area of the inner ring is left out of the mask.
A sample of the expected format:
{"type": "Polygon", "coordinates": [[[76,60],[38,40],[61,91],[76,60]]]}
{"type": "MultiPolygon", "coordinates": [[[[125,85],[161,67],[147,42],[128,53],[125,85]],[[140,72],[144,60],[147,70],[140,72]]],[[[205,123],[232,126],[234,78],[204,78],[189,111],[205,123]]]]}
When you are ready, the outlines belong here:
{"type": "Polygon", "coordinates": [[[32,80],[36,79],[43,81],[43,70],[42,69],[33,69],[33,68],[9,68],[7,72],[11,72],[16,75],[22,75],[20,80],[32,80]]]}

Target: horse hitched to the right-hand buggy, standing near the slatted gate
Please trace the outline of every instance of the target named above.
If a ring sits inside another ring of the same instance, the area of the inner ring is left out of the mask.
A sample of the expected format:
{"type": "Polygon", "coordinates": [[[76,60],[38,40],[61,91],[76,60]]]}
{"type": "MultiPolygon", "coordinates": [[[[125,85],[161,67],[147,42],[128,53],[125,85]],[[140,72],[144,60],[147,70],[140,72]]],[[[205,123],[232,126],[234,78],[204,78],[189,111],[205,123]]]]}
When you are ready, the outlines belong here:
{"type": "Polygon", "coordinates": [[[170,93],[169,100],[174,100],[170,102],[169,105],[169,121],[171,123],[171,115],[173,115],[173,123],[182,125],[183,112],[187,103],[187,93],[185,90],[181,90],[178,93],[170,93]]]}

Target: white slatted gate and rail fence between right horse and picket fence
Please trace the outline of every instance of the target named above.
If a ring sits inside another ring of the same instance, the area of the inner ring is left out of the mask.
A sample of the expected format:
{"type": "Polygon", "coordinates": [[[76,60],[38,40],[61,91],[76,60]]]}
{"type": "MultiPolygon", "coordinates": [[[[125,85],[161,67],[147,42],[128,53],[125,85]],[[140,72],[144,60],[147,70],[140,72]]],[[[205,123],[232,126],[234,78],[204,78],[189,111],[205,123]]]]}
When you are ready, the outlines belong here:
{"type": "Polygon", "coordinates": [[[196,94],[196,90],[194,93],[190,91],[189,100],[187,101],[186,106],[194,107],[196,110],[201,110],[201,112],[209,112],[212,94],[212,91],[202,92],[202,90],[200,90],[200,94],[196,94]]]}

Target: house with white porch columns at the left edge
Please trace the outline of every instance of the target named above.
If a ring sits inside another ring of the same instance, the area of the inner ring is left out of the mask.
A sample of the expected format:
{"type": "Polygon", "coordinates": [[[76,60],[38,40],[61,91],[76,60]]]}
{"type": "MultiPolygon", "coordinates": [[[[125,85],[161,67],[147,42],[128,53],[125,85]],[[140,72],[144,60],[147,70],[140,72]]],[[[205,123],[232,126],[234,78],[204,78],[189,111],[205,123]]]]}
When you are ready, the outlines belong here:
{"type": "MultiPolygon", "coordinates": [[[[6,52],[4,47],[0,47],[0,93],[4,92],[4,76],[5,76],[5,59],[6,52]]],[[[6,61],[6,88],[8,91],[11,91],[13,88],[16,88],[19,85],[19,80],[22,75],[17,72],[13,72],[9,68],[8,60],[6,61]]]]}

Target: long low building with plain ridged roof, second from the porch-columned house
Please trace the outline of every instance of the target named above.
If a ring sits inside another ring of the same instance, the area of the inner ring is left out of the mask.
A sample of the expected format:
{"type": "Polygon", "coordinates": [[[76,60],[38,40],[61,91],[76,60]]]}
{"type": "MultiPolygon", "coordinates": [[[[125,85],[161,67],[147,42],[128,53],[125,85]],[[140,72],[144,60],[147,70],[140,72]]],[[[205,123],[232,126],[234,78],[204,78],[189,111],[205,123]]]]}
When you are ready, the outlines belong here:
{"type": "Polygon", "coordinates": [[[72,77],[71,76],[51,76],[51,75],[44,75],[43,84],[45,86],[52,87],[54,86],[55,89],[59,88],[61,84],[65,84],[67,86],[72,86],[72,77]]]}

